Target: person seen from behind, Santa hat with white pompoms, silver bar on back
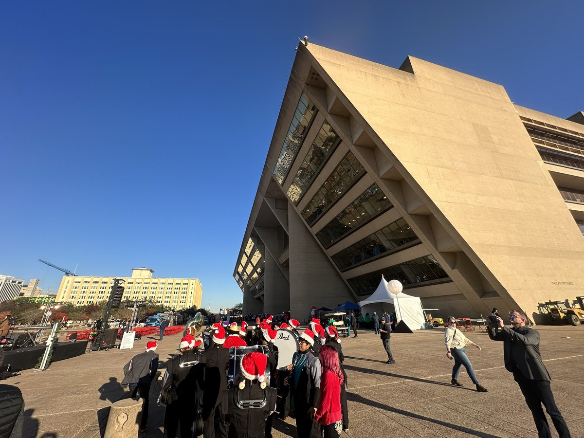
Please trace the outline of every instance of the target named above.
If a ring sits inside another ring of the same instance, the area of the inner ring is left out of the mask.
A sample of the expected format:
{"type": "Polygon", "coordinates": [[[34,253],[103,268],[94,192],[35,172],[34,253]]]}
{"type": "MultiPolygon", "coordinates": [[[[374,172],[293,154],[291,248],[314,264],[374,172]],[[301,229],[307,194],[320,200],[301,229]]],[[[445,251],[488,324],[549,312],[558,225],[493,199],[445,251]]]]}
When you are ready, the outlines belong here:
{"type": "Polygon", "coordinates": [[[227,393],[230,437],[263,438],[266,418],[276,409],[276,390],[266,387],[267,357],[262,353],[248,353],[241,358],[240,374],[234,387],[227,393]],[[260,408],[246,405],[248,401],[266,400],[260,408]]]}

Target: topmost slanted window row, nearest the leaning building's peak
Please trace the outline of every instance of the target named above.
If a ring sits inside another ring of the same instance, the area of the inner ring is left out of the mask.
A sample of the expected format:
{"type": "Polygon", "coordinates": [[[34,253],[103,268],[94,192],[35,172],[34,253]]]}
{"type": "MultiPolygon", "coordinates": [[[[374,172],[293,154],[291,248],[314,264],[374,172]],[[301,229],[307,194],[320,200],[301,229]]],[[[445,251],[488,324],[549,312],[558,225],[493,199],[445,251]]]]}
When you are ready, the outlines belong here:
{"type": "Polygon", "coordinates": [[[300,149],[300,144],[308,132],[308,126],[316,112],[317,109],[314,104],[308,99],[307,95],[302,93],[288,128],[286,140],[284,140],[278,161],[274,167],[274,177],[280,185],[286,178],[288,169],[290,169],[290,165],[294,161],[294,157],[296,157],[296,152],[300,149]]]}

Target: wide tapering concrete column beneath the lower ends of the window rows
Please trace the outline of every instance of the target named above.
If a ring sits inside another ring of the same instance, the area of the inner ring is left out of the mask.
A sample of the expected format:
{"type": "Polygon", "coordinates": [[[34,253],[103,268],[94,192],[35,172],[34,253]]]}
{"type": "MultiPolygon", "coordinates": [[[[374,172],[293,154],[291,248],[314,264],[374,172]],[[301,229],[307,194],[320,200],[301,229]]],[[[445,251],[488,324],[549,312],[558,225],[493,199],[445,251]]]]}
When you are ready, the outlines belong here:
{"type": "Polygon", "coordinates": [[[292,318],[298,321],[308,319],[313,305],[334,309],[347,300],[354,301],[349,287],[292,204],[288,208],[288,230],[292,318]]]}

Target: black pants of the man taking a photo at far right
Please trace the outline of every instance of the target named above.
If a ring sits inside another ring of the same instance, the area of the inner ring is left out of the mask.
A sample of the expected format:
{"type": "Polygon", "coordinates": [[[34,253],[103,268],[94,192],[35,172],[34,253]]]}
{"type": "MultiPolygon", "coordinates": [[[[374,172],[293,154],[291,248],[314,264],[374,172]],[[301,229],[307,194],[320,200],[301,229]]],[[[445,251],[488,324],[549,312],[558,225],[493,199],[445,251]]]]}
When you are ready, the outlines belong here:
{"type": "Polygon", "coordinates": [[[538,437],[551,438],[550,425],[548,425],[544,411],[541,409],[543,404],[545,411],[547,411],[554,423],[555,430],[558,431],[559,438],[570,438],[568,425],[566,425],[564,417],[555,404],[550,382],[546,380],[529,380],[523,376],[521,371],[515,371],[513,378],[519,384],[519,388],[521,388],[523,397],[527,402],[527,407],[531,410],[533,420],[536,422],[538,437]]]}

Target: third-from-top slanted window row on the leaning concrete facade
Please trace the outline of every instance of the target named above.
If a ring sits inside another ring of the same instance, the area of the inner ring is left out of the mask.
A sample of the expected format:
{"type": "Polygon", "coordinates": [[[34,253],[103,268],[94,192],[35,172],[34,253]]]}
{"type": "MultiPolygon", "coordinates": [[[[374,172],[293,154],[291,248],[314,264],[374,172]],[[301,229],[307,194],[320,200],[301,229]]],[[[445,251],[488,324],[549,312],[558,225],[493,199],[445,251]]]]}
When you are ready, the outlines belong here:
{"type": "Polygon", "coordinates": [[[353,152],[347,153],[304,208],[302,216],[307,224],[314,224],[364,173],[365,169],[353,152]]]}

